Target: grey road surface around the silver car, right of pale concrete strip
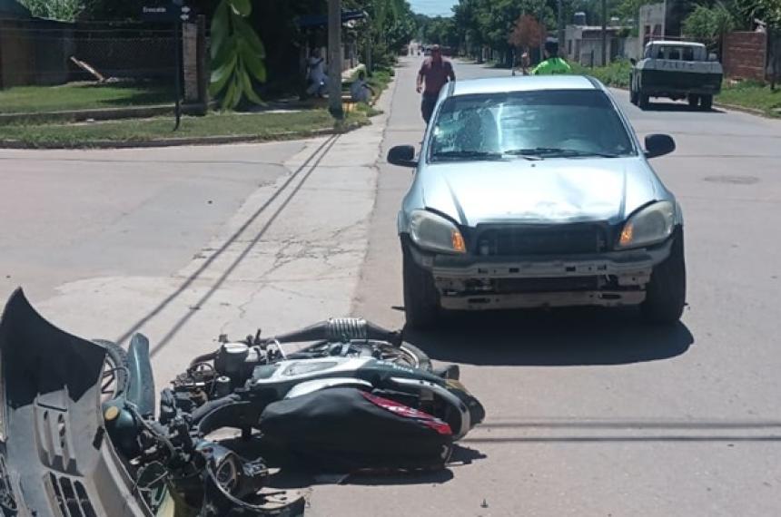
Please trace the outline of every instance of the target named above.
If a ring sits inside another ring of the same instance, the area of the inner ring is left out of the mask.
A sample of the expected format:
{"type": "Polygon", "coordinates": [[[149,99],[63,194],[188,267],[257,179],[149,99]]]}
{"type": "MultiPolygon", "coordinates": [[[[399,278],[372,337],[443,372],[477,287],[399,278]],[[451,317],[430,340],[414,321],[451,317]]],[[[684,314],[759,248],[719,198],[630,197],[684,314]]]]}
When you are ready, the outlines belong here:
{"type": "MultiPolygon", "coordinates": [[[[420,141],[417,63],[400,70],[383,151],[420,141]]],[[[653,164],[685,211],[683,322],[661,329],[631,311],[561,310],[458,317],[413,335],[430,356],[460,363],[487,407],[457,454],[470,464],[419,483],[315,491],[313,509],[328,503],[317,515],[781,512],[781,123],[662,101],[641,112],[614,94],[641,137],[677,141],[653,164]]],[[[355,312],[402,325],[394,216],[410,171],[380,171],[355,312]]]]}

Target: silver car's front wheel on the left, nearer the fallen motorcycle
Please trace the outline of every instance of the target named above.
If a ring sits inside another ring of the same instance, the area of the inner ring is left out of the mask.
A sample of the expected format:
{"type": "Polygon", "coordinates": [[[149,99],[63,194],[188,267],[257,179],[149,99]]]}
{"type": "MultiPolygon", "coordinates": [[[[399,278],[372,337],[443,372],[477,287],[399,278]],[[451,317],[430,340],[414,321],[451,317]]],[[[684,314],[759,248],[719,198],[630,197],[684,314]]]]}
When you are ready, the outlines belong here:
{"type": "Polygon", "coordinates": [[[404,315],[413,328],[433,327],[440,316],[440,292],[434,286],[429,271],[420,268],[409,247],[401,245],[403,252],[404,315]]]}

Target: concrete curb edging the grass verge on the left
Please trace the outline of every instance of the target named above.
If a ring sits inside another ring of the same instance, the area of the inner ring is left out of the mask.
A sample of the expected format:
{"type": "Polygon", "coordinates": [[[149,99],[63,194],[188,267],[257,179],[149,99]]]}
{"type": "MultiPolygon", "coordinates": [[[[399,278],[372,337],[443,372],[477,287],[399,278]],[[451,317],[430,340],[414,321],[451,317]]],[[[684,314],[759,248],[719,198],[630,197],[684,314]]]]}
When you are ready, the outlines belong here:
{"type": "MultiPolygon", "coordinates": [[[[371,122],[369,122],[371,123],[371,122]]],[[[220,145],[226,143],[246,143],[262,141],[300,140],[331,134],[342,134],[357,130],[368,125],[362,122],[351,122],[341,128],[326,128],[305,132],[280,132],[268,135],[237,134],[224,136],[203,136],[191,138],[164,138],[150,141],[80,141],[66,144],[60,142],[42,142],[29,144],[18,140],[0,140],[0,149],[126,149],[149,147],[175,147],[186,145],[220,145]]]]}

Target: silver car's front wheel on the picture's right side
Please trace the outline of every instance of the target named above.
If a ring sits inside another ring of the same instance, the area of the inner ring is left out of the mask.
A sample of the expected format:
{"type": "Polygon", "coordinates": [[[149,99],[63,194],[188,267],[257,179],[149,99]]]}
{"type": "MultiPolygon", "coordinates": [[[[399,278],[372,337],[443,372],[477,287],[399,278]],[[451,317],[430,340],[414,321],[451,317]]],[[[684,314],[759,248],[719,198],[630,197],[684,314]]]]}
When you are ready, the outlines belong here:
{"type": "Polygon", "coordinates": [[[686,306],[686,258],[683,229],[677,229],[670,255],[651,273],[646,299],[640,306],[643,317],[651,323],[676,323],[686,306]]]}

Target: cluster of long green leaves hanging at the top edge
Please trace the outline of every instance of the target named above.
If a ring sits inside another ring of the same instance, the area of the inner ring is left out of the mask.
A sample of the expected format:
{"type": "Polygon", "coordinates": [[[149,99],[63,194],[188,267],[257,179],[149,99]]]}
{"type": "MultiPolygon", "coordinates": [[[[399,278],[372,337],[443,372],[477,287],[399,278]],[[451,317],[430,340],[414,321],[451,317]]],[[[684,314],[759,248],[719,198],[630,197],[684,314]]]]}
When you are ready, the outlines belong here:
{"type": "Polygon", "coordinates": [[[212,80],[209,93],[222,94],[222,109],[232,110],[242,98],[263,104],[253,81],[265,83],[266,49],[247,17],[250,0],[221,0],[212,18],[212,80]]]}

